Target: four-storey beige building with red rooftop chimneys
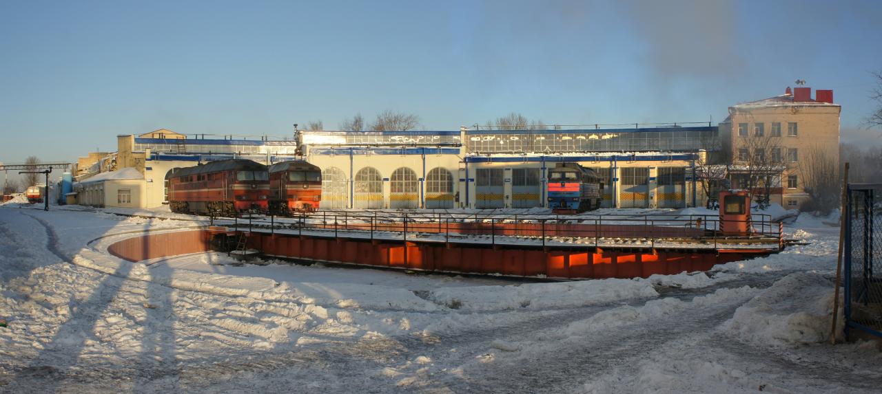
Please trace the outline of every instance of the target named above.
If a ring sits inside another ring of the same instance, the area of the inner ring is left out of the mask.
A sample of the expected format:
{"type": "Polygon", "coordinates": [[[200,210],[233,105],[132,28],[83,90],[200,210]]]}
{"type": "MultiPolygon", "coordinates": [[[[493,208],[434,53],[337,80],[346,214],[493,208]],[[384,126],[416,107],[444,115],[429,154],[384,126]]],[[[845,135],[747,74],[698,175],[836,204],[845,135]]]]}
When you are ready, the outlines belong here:
{"type": "Polygon", "coordinates": [[[729,107],[720,123],[722,159],[734,188],[769,192],[771,202],[799,208],[806,182],[821,161],[839,163],[841,106],[833,91],[787,88],[773,98],[729,107]]]}

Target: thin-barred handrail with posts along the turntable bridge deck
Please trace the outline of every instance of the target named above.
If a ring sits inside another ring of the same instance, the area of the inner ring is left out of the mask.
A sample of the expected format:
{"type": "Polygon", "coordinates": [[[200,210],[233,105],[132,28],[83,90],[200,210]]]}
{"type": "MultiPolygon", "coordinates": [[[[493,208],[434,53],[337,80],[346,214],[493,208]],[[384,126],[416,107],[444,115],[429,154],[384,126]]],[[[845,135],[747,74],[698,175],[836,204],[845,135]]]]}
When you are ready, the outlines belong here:
{"type": "MultiPolygon", "coordinates": [[[[690,239],[699,242],[711,242],[714,246],[721,240],[730,242],[751,241],[782,244],[783,225],[777,222],[774,225],[771,220],[757,221],[727,221],[727,223],[749,222],[753,227],[747,234],[724,233],[721,231],[721,219],[716,215],[597,215],[587,217],[549,217],[551,215],[536,215],[536,218],[497,219],[490,217],[484,220],[475,215],[468,217],[445,217],[442,223],[437,216],[418,221],[409,215],[379,217],[376,215],[358,215],[352,213],[344,215],[321,215],[301,214],[295,218],[265,216],[255,218],[249,216],[248,229],[268,228],[272,232],[288,229],[297,230],[297,234],[303,235],[303,229],[307,230],[333,230],[334,237],[340,237],[341,232],[362,232],[370,239],[377,237],[377,231],[386,233],[401,233],[402,239],[407,241],[419,235],[438,234],[444,235],[445,242],[449,242],[451,235],[455,237],[489,236],[491,244],[497,244],[497,237],[542,237],[542,245],[546,239],[555,237],[578,237],[594,238],[594,244],[599,245],[604,239],[630,239],[641,238],[648,240],[653,247],[660,240],[683,240],[690,239]],[[700,223],[699,223],[700,219],[700,223]],[[759,229],[757,229],[759,227],[759,229]]],[[[246,225],[241,223],[239,217],[214,218],[215,222],[228,220],[236,228],[246,225]]]]}

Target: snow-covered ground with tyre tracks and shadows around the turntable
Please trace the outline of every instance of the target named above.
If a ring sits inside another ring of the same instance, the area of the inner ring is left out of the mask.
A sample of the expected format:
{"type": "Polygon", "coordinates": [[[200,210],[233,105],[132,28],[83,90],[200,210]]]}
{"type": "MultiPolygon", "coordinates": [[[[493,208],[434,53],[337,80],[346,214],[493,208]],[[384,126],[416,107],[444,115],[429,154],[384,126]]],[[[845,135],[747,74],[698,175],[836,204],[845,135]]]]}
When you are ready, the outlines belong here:
{"type": "Polygon", "coordinates": [[[825,341],[835,217],[708,273],[536,282],[132,264],[108,244],[193,223],[32,208],[0,207],[4,392],[882,391],[875,343],[825,341]]]}

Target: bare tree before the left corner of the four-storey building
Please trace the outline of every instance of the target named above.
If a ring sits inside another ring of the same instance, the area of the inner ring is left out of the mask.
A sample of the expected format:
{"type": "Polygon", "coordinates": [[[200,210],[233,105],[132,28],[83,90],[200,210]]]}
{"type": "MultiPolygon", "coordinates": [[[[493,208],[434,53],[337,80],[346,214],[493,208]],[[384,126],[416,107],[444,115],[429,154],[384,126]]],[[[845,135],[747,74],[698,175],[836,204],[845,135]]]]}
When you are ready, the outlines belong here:
{"type": "Polygon", "coordinates": [[[748,130],[748,135],[736,137],[732,152],[735,157],[729,166],[735,186],[747,190],[759,208],[768,207],[775,189],[781,189],[781,172],[787,168],[781,136],[770,131],[755,128],[748,130]]]}

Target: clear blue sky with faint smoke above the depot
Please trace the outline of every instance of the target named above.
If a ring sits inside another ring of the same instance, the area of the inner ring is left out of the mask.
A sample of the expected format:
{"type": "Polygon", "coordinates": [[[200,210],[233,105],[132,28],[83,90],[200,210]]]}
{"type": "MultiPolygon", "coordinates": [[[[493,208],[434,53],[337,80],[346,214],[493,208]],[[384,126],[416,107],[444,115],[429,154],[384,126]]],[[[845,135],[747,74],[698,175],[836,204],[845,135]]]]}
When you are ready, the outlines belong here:
{"type": "Polygon", "coordinates": [[[288,135],[385,109],[426,129],[722,120],[797,78],[843,139],[882,69],[882,3],[0,3],[0,161],[116,150],[116,135],[288,135]]]}

